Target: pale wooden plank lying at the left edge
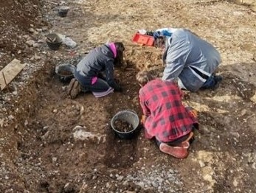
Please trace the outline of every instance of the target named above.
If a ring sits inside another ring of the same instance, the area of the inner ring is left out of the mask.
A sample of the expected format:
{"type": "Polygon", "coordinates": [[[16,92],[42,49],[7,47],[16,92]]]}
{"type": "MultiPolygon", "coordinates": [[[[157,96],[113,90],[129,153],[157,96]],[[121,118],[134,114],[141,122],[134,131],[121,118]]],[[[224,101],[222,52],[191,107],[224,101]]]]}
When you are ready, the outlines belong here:
{"type": "Polygon", "coordinates": [[[20,60],[13,59],[4,69],[0,71],[0,88],[1,91],[20,73],[26,66],[26,63],[21,64],[20,60]]]}

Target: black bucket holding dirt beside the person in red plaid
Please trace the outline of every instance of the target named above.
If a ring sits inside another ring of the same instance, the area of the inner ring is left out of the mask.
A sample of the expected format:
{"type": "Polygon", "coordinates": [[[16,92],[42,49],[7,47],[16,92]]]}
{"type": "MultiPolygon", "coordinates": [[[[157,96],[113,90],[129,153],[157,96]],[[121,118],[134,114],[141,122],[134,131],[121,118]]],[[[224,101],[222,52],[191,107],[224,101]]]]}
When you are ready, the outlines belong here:
{"type": "Polygon", "coordinates": [[[121,139],[131,139],[136,136],[139,132],[139,116],[134,110],[121,110],[116,113],[111,119],[111,128],[114,130],[114,133],[121,139]],[[132,130],[128,132],[120,131],[119,128],[114,127],[114,123],[117,120],[125,121],[128,124],[131,124],[132,130]]]}

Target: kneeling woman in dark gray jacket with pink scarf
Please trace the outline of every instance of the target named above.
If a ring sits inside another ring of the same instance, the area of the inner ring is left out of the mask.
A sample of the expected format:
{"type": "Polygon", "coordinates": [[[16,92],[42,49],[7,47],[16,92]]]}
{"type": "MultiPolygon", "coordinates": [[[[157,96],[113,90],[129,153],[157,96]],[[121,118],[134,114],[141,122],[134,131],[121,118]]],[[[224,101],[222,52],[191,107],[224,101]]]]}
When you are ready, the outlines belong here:
{"type": "Polygon", "coordinates": [[[94,97],[104,97],[113,91],[122,91],[114,79],[114,66],[122,65],[125,46],[121,42],[106,43],[92,49],[77,64],[74,79],[67,94],[75,99],[80,91],[91,91],[94,97]]]}

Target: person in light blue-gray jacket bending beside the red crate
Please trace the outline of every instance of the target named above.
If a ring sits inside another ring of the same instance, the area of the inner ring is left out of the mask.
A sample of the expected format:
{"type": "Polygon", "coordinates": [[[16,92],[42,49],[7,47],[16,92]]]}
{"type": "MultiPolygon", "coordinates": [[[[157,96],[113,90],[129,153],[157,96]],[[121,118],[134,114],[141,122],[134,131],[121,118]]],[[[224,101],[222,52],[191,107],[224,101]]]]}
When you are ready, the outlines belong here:
{"type": "Polygon", "coordinates": [[[180,88],[193,92],[218,87],[222,77],[215,70],[221,56],[210,43],[188,29],[157,29],[153,36],[155,46],[164,50],[162,80],[177,80],[180,88]]]}

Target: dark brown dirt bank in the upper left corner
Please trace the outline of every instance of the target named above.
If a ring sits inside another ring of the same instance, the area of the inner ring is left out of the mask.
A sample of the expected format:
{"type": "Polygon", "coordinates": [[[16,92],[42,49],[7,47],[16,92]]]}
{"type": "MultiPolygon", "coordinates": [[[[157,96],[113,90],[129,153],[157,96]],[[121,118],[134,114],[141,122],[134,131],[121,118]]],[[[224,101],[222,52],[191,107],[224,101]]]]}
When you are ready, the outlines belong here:
{"type": "Polygon", "coordinates": [[[0,69],[14,57],[30,56],[26,35],[35,35],[44,24],[39,0],[0,0],[0,69]],[[24,37],[25,36],[25,37],[24,37]]]}

